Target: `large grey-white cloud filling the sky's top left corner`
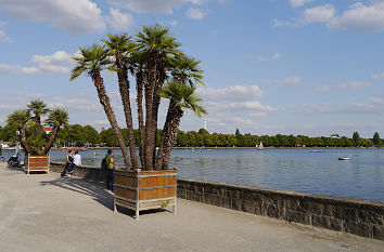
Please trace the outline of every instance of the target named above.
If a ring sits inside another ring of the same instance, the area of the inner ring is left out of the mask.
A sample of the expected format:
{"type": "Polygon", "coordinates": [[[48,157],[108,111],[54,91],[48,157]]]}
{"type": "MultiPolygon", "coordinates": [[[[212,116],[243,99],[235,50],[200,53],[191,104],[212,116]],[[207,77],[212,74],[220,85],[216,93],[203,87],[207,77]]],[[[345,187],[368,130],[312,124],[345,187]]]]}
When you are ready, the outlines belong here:
{"type": "Polygon", "coordinates": [[[0,0],[0,5],[7,16],[47,23],[69,35],[105,29],[101,10],[90,0],[0,0]]]}

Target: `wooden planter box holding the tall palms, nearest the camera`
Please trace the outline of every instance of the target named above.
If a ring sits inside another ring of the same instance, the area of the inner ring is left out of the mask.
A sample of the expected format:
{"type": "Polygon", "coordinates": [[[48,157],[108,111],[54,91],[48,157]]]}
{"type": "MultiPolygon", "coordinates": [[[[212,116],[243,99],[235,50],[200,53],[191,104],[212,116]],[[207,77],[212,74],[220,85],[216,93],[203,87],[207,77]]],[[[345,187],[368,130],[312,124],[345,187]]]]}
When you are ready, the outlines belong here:
{"type": "Polygon", "coordinates": [[[136,211],[172,207],[176,212],[177,170],[161,171],[115,171],[116,205],[136,211]]]}

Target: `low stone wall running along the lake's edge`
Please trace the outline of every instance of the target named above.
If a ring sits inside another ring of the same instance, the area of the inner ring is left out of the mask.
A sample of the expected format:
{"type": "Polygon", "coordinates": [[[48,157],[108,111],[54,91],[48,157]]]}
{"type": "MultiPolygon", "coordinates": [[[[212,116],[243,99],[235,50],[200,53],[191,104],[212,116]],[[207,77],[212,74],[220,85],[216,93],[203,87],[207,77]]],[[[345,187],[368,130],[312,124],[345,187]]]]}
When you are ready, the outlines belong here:
{"type": "MultiPolygon", "coordinates": [[[[51,171],[63,169],[51,162],[51,171]]],[[[77,167],[74,175],[106,181],[106,173],[92,167],[77,167]]],[[[384,240],[384,203],[180,177],[177,186],[178,198],[384,240]]]]}

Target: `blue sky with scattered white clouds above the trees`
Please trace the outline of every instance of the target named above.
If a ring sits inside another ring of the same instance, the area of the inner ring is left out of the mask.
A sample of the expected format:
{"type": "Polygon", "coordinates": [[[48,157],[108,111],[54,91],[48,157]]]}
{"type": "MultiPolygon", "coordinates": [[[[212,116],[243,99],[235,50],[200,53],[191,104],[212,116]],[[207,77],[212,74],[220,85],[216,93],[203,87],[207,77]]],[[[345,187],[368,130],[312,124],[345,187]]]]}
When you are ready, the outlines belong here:
{"type": "MultiPolygon", "coordinates": [[[[69,81],[72,56],[156,23],[204,70],[208,115],[187,112],[181,130],[384,136],[384,0],[0,0],[0,125],[40,98],[108,128],[91,79],[69,81]]],[[[124,128],[116,77],[102,76],[124,128]]]]}

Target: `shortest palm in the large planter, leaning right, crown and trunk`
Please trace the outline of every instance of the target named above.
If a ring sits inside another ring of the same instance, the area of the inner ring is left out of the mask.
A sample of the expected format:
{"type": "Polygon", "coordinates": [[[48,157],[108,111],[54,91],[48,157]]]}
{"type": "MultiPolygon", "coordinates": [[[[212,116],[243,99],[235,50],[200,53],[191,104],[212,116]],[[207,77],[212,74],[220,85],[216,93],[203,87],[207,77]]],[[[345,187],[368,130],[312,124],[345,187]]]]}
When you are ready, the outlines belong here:
{"type": "Polygon", "coordinates": [[[169,158],[176,143],[180,119],[184,112],[183,109],[192,110],[199,118],[202,114],[207,114],[202,106],[197,105],[202,98],[195,95],[195,90],[196,88],[185,85],[183,82],[171,81],[164,85],[158,92],[161,97],[169,100],[169,106],[156,158],[156,170],[168,169],[169,158]]]}

